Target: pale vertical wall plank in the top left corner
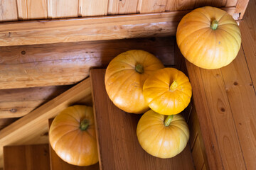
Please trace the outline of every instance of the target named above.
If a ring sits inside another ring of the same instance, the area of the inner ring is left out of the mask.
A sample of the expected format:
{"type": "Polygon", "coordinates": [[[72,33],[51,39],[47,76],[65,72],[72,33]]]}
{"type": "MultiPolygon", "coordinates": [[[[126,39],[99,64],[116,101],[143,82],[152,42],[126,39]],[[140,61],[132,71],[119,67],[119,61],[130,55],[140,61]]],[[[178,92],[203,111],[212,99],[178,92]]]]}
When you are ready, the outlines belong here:
{"type": "Polygon", "coordinates": [[[0,21],[17,21],[16,0],[0,0],[0,21]]]}

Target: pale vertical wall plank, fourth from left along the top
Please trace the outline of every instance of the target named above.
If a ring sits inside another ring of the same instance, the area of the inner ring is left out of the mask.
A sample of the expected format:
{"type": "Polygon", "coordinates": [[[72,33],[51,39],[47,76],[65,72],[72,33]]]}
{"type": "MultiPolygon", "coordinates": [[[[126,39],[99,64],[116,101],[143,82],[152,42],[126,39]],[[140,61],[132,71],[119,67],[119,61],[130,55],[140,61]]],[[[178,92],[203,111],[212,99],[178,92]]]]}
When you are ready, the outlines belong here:
{"type": "Polygon", "coordinates": [[[105,16],[108,0],[79,0],[78,16],[105,16]]]}

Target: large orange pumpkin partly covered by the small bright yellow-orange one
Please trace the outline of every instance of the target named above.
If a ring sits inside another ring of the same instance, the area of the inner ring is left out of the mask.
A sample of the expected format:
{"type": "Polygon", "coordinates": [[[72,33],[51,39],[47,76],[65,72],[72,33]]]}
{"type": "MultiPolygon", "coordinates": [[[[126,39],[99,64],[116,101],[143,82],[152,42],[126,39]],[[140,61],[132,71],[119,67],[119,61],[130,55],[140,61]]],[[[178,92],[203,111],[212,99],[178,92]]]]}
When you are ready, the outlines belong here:
{"type": "Polygon", "coordinates": [[[129,50],[114,57],[107,66],[105,87],[115,106],[128,113],[149,110],[142,88],[144,81],[157,69],[164,68],[154,55],[143,50],[129,50]]]}

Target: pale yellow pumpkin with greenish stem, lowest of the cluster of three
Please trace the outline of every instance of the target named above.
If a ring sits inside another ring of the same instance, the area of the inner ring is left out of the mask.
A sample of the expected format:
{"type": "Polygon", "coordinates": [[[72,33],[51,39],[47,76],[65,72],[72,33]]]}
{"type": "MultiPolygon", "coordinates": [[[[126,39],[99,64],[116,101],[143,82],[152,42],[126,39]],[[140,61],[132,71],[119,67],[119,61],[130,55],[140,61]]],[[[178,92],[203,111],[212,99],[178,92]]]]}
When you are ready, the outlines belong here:
{"type": "Polygon", "coordinates": [[[180,114],[166,116],[149,110],[139,120],[137,138],[142,148],[152,156],[175,157],[187,145],[188,125],[180,114]]]}

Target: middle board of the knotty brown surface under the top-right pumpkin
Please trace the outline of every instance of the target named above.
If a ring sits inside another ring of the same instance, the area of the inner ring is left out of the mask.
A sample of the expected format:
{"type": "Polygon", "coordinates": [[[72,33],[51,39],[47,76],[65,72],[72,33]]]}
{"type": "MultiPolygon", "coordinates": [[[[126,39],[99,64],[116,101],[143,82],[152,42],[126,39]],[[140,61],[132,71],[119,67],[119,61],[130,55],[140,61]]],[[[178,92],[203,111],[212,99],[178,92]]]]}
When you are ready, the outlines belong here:
{"type": "Polygon", "coordinates": [[[242,49],[221,69],[247,169],[256,169],[256,95],[242,49]],[[242,115],[241,115],[242,113],[242,115]],[[250,139],[250,140],[248,140],[250,139]]]}

